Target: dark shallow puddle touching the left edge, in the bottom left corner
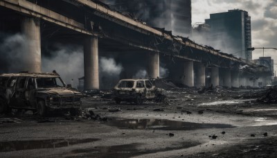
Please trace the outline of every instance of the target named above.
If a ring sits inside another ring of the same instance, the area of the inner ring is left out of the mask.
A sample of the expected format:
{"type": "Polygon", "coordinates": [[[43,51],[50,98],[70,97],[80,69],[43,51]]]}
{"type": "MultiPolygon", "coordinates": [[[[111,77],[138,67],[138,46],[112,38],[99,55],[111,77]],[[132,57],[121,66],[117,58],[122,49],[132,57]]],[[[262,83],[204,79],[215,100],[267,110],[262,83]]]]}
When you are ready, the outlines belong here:
{"type": "Polygon", "coordinates": [[[0,152],[31,150],[41,148],[62,148],[79,143],[89,143],[100,139],[46,139],[33,141],[3,141],[0,142],[0,152]]]}

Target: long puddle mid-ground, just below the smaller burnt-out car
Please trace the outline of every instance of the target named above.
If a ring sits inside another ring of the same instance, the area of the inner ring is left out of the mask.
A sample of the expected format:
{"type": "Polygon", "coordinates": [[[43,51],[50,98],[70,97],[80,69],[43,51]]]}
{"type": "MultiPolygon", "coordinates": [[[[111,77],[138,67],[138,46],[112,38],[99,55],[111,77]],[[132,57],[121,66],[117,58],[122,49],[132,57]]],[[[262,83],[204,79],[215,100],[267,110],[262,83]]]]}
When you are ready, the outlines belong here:
{"type": "Polygon", "coordinates": [[[108,125],[133,130],[198,130],[205,128],[234,128],[233,125],[216,123],[190,123],[166,119],[111,119],[108,125]]]}

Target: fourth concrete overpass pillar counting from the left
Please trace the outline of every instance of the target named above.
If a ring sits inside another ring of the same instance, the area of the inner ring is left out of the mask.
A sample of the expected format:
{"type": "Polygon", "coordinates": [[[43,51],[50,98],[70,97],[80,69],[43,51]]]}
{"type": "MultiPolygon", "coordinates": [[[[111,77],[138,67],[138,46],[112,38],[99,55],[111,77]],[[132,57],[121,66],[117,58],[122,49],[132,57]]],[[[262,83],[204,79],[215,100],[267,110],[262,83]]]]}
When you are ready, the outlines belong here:
{"type": "Polygon", "coordinates": [[[187,85],[188,87],[194,86],[194,79],[193,79],[193,62],[188,61],[184,62],[184,76],[181,78],[181,83],[183,85],[187,85]]]}

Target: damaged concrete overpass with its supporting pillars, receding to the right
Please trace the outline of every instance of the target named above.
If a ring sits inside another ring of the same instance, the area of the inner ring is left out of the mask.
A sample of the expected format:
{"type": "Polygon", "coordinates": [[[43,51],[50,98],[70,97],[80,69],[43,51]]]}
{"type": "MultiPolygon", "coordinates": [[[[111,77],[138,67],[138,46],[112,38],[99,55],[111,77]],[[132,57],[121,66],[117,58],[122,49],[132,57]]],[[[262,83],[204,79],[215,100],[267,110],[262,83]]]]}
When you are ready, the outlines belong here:
{"type": "MultiPolygon", "coordinates": [[[[28,39],[28,59],[22,71],[41,71],[41,23],[46,21],[64,34],[81,38],[84,44],[84,85],[99,89],[98,46],[117,49],[124,44],[129,51],[148,52],[148,76],[159,77],[160,55],[178,59],[179,67],[171,69],[174,80],[190,87],[208,84],[239,87],[247,85],[247,76],[240,76],[240,67],[257,65],[220,53],[211,47],[197,44],[186,37],[175,37],[166,30],[152,28],[89,0],[0,0],[1,12],[16,12],[21,21],[21,32],[28,39]],[[114,44],[116,43],[116,44],[114,44]],[[206,69],[211,71],[211,82],[206,84],[206,69]]],[[[49,32],[50,33],[50,32],[49,32]]],[[[74,38],[74,37],[73,37],[74,38]]],[[[24,60],[24,59],[23,59],[24,60]]]]}

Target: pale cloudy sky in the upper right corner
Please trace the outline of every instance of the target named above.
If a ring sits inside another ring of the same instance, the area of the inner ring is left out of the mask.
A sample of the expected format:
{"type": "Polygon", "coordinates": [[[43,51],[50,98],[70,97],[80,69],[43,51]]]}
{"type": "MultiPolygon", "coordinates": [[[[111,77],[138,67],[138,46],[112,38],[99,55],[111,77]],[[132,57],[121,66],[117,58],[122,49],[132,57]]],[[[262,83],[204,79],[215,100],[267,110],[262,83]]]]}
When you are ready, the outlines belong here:
{"type": "MultiPolygon", "coordinates": [[[[251,16],[253,47],[277,47],[277,0],[192,0],[192,22],[204,22],[211,13],[232,9],[245,10],[251,16]]],[[[260,56],[262,49],[253,51],[253,59],[260,56]]],[[[265,56],[277,63],[277,50],[267,49],[265,56]]]]}

